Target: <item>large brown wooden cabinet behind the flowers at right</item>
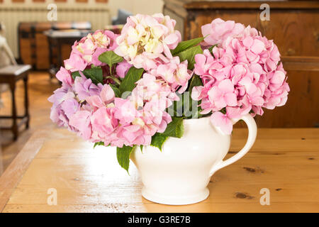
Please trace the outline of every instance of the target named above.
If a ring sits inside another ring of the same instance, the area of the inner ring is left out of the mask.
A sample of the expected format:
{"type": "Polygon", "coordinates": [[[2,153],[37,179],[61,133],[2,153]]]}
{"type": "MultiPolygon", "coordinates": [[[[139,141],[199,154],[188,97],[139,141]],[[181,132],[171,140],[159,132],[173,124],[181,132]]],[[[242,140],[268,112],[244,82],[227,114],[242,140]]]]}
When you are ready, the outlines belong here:
{"type": "Polygon", "coordinates": [[[184,40],[201,36],[214,18],[250,25],[273,39],[291,88],[286,106],[257,116],[259,127],[319,127],[319,1],[164,0],[164,14],[177,21],[184,40]],[[261,4],[270,20],[260,20],[261,4]]]}

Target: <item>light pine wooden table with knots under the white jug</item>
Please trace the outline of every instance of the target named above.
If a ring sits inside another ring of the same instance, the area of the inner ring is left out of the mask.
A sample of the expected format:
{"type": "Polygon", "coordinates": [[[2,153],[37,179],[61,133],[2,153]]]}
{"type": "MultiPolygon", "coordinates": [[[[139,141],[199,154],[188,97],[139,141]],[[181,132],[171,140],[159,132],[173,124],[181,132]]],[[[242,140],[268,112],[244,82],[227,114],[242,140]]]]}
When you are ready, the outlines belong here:
{"type": "MultiPolygon", "coordinates": [[[[228,155],[245,143],[235,128],[228,155]]],[[[113,148],[84,142],[64,129],[38,131],[0,177],[3,212],[318,212],[319,128],[259,128],[245,157],[213,175],[211,195],[188,206],[166,206],[142,198],[138,171],[116,163],[113,148]],[[260,190],[270,191],[262,206],[260,190]],[[49,189],[57,205],[49,206],[49,189]]]]}

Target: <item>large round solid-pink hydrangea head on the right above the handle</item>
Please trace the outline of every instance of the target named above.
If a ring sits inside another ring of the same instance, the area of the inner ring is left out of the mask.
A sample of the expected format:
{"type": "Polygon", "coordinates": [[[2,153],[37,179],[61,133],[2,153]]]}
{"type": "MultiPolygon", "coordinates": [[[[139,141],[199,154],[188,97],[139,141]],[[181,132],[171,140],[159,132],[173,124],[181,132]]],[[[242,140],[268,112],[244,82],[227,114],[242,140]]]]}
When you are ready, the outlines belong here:
{"type": "Polygon", "coordinates": [[[254,28],[234,21],[214,20],[203,26],[206,44],[216,45],[195,56],[194,72],[203,86],[194,87],[192,98],[201,100],[202,114],[211,111],[211,121],[227,134],[232,118],[262,115],[286,103],[289,85],[278,48],[254,28]],[[220,111],[226,111],[226,114],[220,111]]]}

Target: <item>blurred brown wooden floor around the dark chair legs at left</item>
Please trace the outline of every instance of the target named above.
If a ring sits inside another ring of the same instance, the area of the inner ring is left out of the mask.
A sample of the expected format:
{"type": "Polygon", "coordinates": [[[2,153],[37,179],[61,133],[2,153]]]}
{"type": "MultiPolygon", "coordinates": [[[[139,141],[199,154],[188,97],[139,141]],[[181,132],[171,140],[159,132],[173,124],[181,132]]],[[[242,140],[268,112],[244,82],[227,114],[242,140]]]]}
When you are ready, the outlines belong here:
{"type": "MultiPolygon", "coordinates": [[[[52,129],[56,126],[50,121],[51,104],[47,98],[59,87],[56,79],[50,80],[46,72],[32,72],[29,77],[29,99],[30,99],[30,129],[21,127],[18,140],[13,143],[11,131],[1,131],[2,152],[0,152],[0,175],[8,167],[14,157],[26,144],[30,135],[38,129],[52,129]]],[[[11,94],[4,92],[1,94],[4,106],[0,109],[0,115],[11,113],[11,94]]],[[[16,89],[16,99],[18,114],[23,114],[23,82],[18,82],[16,89]]],[[[9,126],[10,121],[1,121],[1,126],[9,126]]],[[[1,151],[1,150],[0,150],[1,151]]]]}

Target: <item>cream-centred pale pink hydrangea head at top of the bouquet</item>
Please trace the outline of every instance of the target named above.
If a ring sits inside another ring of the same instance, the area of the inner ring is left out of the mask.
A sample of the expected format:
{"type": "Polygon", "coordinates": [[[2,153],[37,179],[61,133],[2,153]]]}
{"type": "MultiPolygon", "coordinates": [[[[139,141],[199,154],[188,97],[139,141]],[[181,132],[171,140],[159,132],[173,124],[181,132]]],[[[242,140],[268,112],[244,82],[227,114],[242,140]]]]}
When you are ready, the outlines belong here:
{"type": "Polygon", "coordinates": [[[137,68],[151,70],[159,60],[172,58],[170,50],[181,40],[174,30],[176,21],[161,13],[153,16],[138,14],[130,16],[116,42],[114,51],[137,68]]]}

